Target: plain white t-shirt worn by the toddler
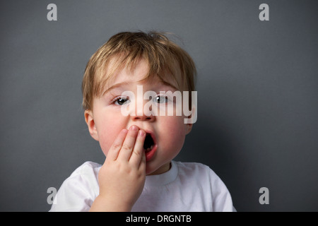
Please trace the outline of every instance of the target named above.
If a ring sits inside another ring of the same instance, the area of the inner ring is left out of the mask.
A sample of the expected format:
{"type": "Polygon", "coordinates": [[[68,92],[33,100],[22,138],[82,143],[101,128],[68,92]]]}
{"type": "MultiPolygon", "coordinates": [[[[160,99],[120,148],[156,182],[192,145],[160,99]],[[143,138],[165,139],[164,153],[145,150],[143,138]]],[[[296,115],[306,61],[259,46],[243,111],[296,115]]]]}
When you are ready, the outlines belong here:
{"type": "MultiPolygon", "coordinates": [[[[64,181],[49,211],[88,211],[99,194],[101,165],[85,162],[64,181]]],[[[132,211],[235,211],[225,184],[208,166],[175,162],[169,171],[146,176],[132,211]]]]}

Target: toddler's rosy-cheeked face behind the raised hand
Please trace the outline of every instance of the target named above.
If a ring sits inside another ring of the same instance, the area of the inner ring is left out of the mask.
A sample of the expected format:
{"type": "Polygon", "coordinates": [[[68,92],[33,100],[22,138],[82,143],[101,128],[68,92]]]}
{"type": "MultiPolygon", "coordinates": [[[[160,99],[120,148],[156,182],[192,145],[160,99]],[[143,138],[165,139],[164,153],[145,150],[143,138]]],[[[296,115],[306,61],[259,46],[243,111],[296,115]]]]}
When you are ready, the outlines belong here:
{"type": "MultiPolygon", "coordinates": [[[[154,151],[146,154],[146,174],[160,174],[170,168],[170,161],[179,153],[184,144],[184,138],[191,131],[192,124],[184,124],[184,116],[146,116],[146,112],[137,114],[140,109],[136,108],[134,115],[125,116],[121,108],[124,105],[135,103],[126,101],[124,91],[131,91],[137,97],[137,85],[142,85],[143,93],[152,90],[160,96],[160,91],[175,92],[175,88],[163,84],[159,79],[153,81],[143,80],[148,72],[146,61],[139,61],[136,68],[129,72],[126,69],[115,74],[111,84],[107,84],[106,93],[101,97],[94,98],[93,111],[85,112],[86,122],[90,135],[100,142],[102,152],[107,156],[115,138],[122,129],[129,129],[136,125],[139,129],[151,133],[154,136],[154,151]],[[143,80],[143,81],[142,81],[143,80]],[[122,98],[122,99],[119,99],[122,98]]],[[[173,79],[169,81],[173,86],[177,84],[173,79]]],[[[160,97],[164,100],[164,97],[160,97]]],[[[149,100],[143,100],[143,106],[149,100]]],[[[167,105],[164,101],[158,105],[167,105]]]]}

